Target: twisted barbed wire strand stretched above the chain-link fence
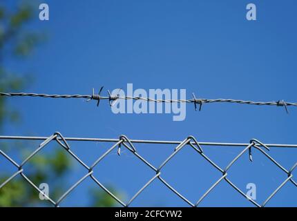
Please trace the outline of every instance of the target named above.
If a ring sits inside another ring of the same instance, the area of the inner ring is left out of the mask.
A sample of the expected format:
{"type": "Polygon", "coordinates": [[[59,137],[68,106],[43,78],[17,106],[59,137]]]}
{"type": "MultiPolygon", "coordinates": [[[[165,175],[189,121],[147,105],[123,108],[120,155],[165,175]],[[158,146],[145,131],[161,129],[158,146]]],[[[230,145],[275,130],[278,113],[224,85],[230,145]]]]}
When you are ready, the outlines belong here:
{"type": "Polygon", "coordinates": [[[297,106],[297,102],[285,102],[284,100],[278,100],[273,102],[255,102],[250,100],[242,100],[242,99],[205,99],[205,98],[196,98],[193,93],[192,99],[154,99],[152,97],[133,97],[133,96],[119,96],[119,94],[112,95],[109,90],[108,96],[102,96],[102,88],[100,88],[99,93],[95,94],[94,89],[91,95],[49,95],[44,93],[0,93],[0,97],[43,97],[43,98],[64,98],[64,99],[88,99],[97,100],[97,106],[99,106],[99,102],[102,99],[107,99],[109,104],[112,106],[117,99],[133,99],[133,100],[144,100],[145,102],[155,102],[155,103],[187,103],[194,104],[195,110],[197,111],[197,105],[199,105],[199,111],[201,111],[202,104],[210,104],[210,103],[236,103],[236,104],[250,104],[250,105],[258,105],[258,106],[284,106],[285,110],[288,113],[287,106],[297,106]]]}

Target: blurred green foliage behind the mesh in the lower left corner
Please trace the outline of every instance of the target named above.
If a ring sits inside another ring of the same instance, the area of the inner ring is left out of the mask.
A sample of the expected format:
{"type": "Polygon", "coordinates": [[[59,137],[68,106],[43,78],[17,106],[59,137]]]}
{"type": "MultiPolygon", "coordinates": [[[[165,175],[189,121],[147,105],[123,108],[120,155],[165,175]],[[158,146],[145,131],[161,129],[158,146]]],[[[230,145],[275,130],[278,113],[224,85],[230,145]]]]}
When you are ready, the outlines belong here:
{"type": "MultiPolygon", "coordinates": [[[[21,152],[21,148],[19,149],[21,152]]],[[[25,158],[28,154],[24,155],[25,158]]],[[[34,170],[26,171],[26,175],[37,186],[43,182],[50,183],[57,175],[65,174],[70,168],[70,160],[64,154],[64,150],[58,150],[51,155],[35,155],[30,162],[30,168],[34,170]]],[[[8,175],[0,178],[0,183],[4,182],[8,175]]],[[[55,186],[55,184],[53,185],[55,186]]],[[[59,184],[63,186],[63,184],[59,184]]],[[[52,186],[51,186],[52,187],[52,186]]],[[[60,189],[59,187],[59,189],[60,189]]],[[[50,188],[50,197],[57,198],[59,194],[57,186],[50,188]]],[[[23,177],[15,177],[0,189],[0,206],[38,206],[40,204],[39,193],[32,189],[23,177]]]]}

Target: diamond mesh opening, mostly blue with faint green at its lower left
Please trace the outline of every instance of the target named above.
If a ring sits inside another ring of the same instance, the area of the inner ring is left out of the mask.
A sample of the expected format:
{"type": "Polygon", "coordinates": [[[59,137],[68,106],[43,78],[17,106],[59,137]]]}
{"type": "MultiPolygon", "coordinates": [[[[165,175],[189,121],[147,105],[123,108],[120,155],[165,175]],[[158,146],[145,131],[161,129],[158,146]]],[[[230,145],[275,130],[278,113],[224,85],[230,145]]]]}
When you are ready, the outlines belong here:
{"type": "MultiPolygon", "coordinates": [[[[113,146],[113,144],[110,144],[110,146],[113,146]]],[[[135,148],[138,150],[140,147],[135,145],[135,148]]],[[[113,151],[108,153],[95,166],[93,175],[119,200],[126,204],[137,191],[142,189],[155,176],[155,171],[126,147],[122,146],[120,155],[117,154],[117,151],[118,149],[114,148],[113,151]],[[115,192],[113,189],[117,191],[115,192]]]]}

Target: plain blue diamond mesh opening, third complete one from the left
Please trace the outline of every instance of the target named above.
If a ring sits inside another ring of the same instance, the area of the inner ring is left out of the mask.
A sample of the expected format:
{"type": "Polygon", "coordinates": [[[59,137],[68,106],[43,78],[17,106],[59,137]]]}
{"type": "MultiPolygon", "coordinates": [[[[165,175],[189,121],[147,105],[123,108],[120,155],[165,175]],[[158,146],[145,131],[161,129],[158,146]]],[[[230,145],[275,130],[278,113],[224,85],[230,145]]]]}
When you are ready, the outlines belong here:
{"type": "Polygon", "coordinates": [[[189,145],[176,153],[161,173],[166,182],[193,204],[222,177],[218,169],[189,145]]]}

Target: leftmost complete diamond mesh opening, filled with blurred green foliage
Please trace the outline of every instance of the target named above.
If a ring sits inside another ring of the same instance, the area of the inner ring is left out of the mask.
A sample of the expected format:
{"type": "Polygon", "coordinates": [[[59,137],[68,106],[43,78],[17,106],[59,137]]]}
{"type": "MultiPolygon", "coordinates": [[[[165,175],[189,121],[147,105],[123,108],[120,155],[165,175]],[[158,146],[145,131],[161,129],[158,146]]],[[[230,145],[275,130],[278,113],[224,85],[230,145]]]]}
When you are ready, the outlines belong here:
{"type": "MultiPolygon", "coordinates": [[[[35,150],[37,148],[38,146],[35,146],[35,150]]],[[[28,152],[27,157],[31,153],[28,152]]],[[[48,185],[48,196],[54,202],[88,172],[55,140],[33,155],[22,169],[23,174],[38,188],[44,189],[44,184],[48,185]]],[[[35,191],[33,195],[39,198],[39,191],[34,189],[32,184],[31,188],[35,191]]]]}

